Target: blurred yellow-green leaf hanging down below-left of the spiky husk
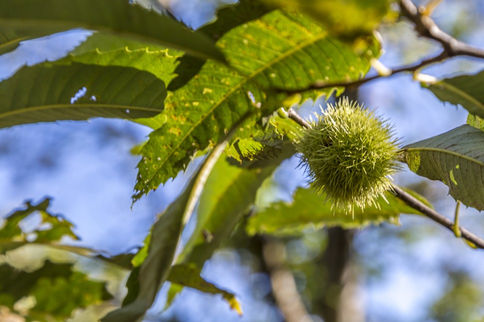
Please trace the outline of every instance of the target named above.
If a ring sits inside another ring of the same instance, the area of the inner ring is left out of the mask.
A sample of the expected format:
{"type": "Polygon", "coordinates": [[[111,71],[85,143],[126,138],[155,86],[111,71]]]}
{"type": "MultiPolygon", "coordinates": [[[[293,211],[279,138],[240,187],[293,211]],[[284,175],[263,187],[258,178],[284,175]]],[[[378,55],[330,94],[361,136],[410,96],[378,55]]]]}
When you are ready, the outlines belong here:
{"type": "Polygon", "coordinates": [[[203,267],[254,203],[262,182],[295,153],[292,145],[284,148],[275,160],[243,162],[242,166],[227,158],[217,162],[200,196],[197,225],[177,263],[203,267]]]}

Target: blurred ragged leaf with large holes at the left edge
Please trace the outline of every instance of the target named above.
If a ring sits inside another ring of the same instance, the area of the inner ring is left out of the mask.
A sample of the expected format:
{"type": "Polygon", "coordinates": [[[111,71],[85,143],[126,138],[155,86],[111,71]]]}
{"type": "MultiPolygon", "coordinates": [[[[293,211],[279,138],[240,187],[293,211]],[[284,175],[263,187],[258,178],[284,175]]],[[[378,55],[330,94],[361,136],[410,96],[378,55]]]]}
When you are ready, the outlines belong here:
{"type": "Polygon", "coordinates": [[[4,222],[0,225],[0,253],[12,249],[12,242],[18,246],[21,242],[50,243],[58,242],[62,237],[68,236],[74,240],[79,239],[72,231],[73,224],[61,215],[54,215],[47,211],[50,199],[45,198],[36,205],[30,201],[25,203],[25,209],[17,210],[5,217],[4,222]],[[38,213],[40,223],[29,233],[22,232],[19,223],[27,217],[38,213]],[[6,248],[3,244],[9,244],[6,248]]]}

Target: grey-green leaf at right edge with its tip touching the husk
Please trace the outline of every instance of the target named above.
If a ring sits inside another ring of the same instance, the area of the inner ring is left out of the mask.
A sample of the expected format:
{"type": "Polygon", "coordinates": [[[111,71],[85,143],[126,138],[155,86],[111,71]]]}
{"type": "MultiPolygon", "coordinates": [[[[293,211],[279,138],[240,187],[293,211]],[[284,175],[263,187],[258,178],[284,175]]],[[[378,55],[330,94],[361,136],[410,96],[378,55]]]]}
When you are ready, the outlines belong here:
{"type": "Polygon", "coordinates": [[[463,125],[404,147],[402,159],[415,173],[449,186],[466,206],[484,209],[484,132],[463,125]]]}

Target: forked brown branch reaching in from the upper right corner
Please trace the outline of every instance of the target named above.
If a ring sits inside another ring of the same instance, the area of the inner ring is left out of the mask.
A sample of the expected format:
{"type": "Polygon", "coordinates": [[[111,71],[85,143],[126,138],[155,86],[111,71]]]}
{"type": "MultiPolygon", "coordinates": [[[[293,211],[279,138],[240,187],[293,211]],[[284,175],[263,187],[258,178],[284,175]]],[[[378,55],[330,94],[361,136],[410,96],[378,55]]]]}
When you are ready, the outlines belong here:
{"type": "Polygon", "coordinates": [[[408,66],[403,66],[395,69],[390,69],[386,74],[378,74],[370,76],[367,78],[359,79],[352,82],[323,82],[318,81],[308,87],[299,89],[278,89],[281,93],[295,94],[306,92],[310,90],[320,90],[332,87],[346,87],[346,88],[357,88],[360,85],[368,83],[378,78],[389,77],[402,72],[415,72],[423,67],[429,66],[434,63],[441,62],[447,58],[455,56],[470,56],[477,58],[484,58],[484,49],[473,47],[466,44],[456,38],[452,37],[450,34],[442,31],[434,19],[432,19],[427,13],[425,8],[420,8],[420,10],[415,6],[411,0],[400,0],[400,16],[410,20],[414,26],[415,30],[422,37],[433,39],[442,45],[442,52],[438,55],[424,59],[419,63],[415,63],[408,66]]]}

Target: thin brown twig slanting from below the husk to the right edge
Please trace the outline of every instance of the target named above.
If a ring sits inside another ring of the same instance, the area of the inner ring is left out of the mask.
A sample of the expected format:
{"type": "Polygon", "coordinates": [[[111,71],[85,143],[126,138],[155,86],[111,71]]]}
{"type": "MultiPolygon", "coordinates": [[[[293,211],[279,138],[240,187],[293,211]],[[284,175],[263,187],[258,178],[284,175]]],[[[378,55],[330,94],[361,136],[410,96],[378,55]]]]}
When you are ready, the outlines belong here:
{"type": "MultiPolygon", "coordinates": [[[[448,219],[444,215],[441,215],[434,209],[430,208],[427,206],[425,203],[422,201],[418,200],[411,194],[407,193],[404,191],[402,188],[400,188],[397,185],[392,186],[393,191],[395,192],[395,195],[403,200],[406,204],[408,204],[410,207],[417,209],[418,211],[422,212],[424,215],[429,217],[430,219],[434,220],[435,222],[441,224],[442,226],[446,227],[450,231],[454,232],[454,223],[452,220],[448,219]]],[[[477,248],[484,249],[484,240],[479,238],[478,236],[474,235],[472,232],[469,230],[458,226],[458,229],[461,231],[461,237],[470,241],[473,243],[477,248]]]]}

